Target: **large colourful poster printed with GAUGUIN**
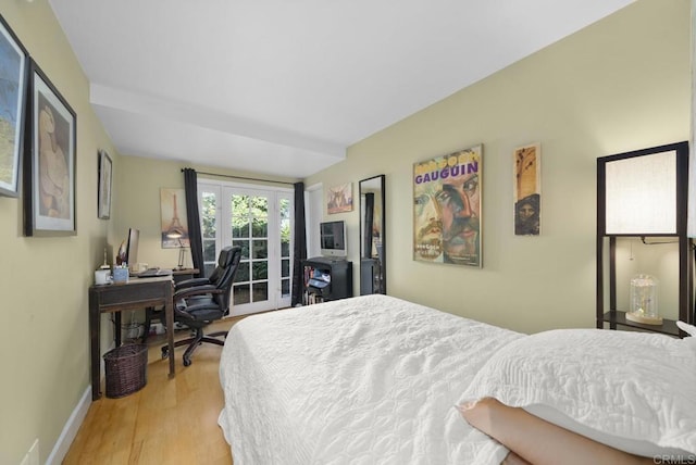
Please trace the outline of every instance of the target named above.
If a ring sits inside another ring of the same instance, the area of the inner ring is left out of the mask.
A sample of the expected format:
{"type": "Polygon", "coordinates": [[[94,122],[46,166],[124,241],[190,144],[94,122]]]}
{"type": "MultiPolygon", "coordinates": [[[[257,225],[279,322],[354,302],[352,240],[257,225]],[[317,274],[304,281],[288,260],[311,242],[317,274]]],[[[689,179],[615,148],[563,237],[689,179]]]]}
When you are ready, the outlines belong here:
{"type": "Polygon", "coordinates": [[[483,146],[413,164],[413,260],[482,266],[483,146]]]}

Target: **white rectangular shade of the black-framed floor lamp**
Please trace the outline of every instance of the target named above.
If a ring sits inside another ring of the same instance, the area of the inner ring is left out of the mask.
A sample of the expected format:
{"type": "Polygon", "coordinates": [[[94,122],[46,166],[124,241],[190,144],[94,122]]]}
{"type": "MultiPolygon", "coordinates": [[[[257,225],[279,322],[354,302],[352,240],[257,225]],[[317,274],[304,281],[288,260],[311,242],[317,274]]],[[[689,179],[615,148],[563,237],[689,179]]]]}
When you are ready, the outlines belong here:
{"type": "Polygon", "coordinates": [[[676,151],[605,165],[607,235],[678,234],[676,151]]]}

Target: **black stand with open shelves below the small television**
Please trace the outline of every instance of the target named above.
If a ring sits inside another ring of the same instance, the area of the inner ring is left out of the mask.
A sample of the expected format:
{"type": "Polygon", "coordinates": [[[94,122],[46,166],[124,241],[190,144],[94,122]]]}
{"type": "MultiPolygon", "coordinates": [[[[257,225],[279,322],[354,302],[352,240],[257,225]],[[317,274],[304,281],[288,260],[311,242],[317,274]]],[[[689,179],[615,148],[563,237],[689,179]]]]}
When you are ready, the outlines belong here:
{"type": "Polygon", "coordinates": [[[302,261],[302,267],[304,305],[352,297],[352,262],[336,256],[315,256],[302,261]]]}

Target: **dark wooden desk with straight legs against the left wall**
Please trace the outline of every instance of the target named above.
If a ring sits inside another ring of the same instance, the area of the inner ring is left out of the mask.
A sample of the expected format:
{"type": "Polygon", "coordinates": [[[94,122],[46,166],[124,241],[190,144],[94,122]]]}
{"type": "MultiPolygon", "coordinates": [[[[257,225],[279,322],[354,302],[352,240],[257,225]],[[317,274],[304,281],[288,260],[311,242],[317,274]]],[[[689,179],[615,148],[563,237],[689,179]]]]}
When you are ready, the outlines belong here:
{"type": "Polygon", "coordinates": [[[101,397],[100,332],[101,314],[115,312],[116,347],[121,345],[121,312],[164,305],[170,378],[174,377],[174,282],[172,276],[135,278],[128,282],[91,286],[89,288],[89,339],[91,345],[91,400],[101,397]]]}

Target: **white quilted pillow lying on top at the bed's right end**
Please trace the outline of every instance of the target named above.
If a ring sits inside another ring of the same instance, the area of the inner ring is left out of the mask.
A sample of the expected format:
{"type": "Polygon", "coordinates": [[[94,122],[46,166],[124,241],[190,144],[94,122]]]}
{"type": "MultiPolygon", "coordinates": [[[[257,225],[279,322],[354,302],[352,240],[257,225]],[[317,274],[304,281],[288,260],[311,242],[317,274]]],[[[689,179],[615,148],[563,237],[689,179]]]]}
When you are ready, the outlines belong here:
{"type": "Polygon", "coordinates": [[[495,398],[643,455],[696,458],[696,338],[558,329],[498,351],[459,404],[495,398]]]}

